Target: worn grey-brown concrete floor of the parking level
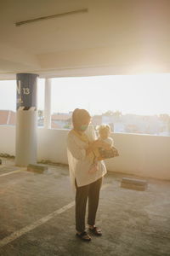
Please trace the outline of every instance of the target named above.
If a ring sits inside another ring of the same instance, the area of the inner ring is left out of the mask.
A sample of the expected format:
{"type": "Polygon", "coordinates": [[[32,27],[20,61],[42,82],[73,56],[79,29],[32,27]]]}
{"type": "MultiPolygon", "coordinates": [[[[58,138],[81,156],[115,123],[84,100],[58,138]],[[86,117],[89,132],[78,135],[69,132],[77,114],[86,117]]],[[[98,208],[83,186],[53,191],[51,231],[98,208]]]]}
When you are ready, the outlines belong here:
{"type": "Polygon", "coordinates": [[[146,191],[122,189],[122,177],[131,176],[108,173],[97,216],[103,236],[87,243],[75,236],[67,166],[37,174],[2,160],[0,255],[170,255],[170,182],[147,179],[146,191]]]}

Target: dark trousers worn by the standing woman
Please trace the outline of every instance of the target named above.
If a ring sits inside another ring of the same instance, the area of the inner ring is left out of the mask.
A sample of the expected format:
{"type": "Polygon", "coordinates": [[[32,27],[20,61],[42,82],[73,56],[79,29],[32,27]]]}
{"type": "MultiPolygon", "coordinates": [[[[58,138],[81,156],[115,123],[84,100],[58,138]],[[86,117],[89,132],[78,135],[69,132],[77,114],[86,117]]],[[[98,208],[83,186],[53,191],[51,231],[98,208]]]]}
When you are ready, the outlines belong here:
{"type": "MultiPolygon", "coordinates": [[[[75,181],[76,182],[76,181],[75,181]]],[[[85,230],[85,214],[88,201],[88,224],[95,224],[96,212],[99,205],[99,190],[102,183],[102,177],[94,183],[77,187],[76,182],[76,229],[79,232],[85,230]]]]}

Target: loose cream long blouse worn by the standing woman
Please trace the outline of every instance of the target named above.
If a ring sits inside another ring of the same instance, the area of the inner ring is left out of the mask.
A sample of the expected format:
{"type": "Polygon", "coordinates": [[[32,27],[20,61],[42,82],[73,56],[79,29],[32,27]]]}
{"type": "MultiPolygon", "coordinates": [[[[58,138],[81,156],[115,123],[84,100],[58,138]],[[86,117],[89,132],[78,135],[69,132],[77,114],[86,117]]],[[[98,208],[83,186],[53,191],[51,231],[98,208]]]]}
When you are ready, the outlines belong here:
{"type": "Polygon", "coordinates": [[[67,136],[67,156],[73,186],[75,186],[75,179],[77,180],[77,186],[82,187],[89,183],[94,183],[106,173],[103,160],[97,162],[98,170],[96,172],[89,173],[93,160],[86,155],[86,148],[88,148],[88,142],[82,141],[77,135],[69,131],[67,136]]]}

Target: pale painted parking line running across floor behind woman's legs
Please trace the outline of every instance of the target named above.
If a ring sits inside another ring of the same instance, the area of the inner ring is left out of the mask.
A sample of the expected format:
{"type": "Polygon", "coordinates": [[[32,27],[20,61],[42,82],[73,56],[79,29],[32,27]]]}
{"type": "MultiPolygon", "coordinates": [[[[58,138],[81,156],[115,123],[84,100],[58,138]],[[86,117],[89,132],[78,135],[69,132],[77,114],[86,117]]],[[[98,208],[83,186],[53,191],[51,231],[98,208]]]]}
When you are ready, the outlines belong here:
{"type": "MultiPolygon", "coordinates": [[[[105,183],[102,185],[102,190],[107,188],[108,186],[110,186],[111,183],[105,183]]],[[[7,245],[9,242],[14,241],[15,239],[19,238],[20,236],[26,234],[27,232],[36,229],[38,226],[45,224],[49,219],[54,218],[55,216],[65,212],[68,209],[71,209],[71,207],[75,206],[75,201],[71,201],[68,205],[66,205],[65,207],[60,208],[59,210],[56,210],[50,214],[48,214],[47,216],[38,219],[37,221],[35,221],[33,224],[27,225],[25,228],[15,231],[13,234],[11,234],[10,236],[4,237],[1,241],[0,241],[0,247],[3,247],[5,245],[7,245]]]]}

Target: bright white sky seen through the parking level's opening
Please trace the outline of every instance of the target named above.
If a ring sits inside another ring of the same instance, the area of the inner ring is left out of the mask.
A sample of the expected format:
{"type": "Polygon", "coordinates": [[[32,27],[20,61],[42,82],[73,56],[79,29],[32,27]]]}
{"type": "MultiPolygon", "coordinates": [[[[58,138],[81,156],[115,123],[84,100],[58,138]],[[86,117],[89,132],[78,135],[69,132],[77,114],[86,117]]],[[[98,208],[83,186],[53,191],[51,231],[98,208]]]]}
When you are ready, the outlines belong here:
{"type": "MultiPolygon", "coordinates": [[[[44,79],[38,79],[38,109],[44,105],[44,79]]],[[[16,82],[0,81],[0,109],[15,111],[16,82]]],[[[86,108],[91,114],[170,114],[170,73],[52,79],[52,113],[86,108]]]]}

